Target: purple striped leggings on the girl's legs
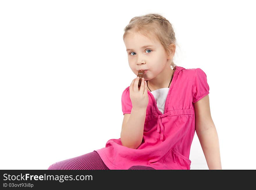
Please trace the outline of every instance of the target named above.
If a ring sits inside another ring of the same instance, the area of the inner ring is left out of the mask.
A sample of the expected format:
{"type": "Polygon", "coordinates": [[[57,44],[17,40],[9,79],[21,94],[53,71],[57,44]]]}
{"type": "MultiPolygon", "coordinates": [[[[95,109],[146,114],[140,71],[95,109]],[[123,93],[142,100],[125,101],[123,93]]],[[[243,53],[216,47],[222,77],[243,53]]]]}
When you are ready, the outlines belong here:
{"type": "MultiPolygon", "coordinates": [[[[95,169],[95,170],[102,170],[102,169],[109,169],[102,159],[100,158],[97,151],[93,151],[81,156],[77,156],[74,158],[69,158],[67,160],[63,160],[60,162],[56,162],[49,166],[48,169],[95,169]]],[[[154,169],[152,167],[147,166],[131,166],[128,169],[154,169]]]]}

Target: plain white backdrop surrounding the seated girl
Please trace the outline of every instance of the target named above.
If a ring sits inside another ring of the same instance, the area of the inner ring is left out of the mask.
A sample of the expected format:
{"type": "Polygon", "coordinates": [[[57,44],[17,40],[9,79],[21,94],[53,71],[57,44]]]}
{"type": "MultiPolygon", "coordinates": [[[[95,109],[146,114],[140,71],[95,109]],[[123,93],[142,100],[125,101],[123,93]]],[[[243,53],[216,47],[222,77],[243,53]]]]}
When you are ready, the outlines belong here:
{"type": "MultiPolygon", "coordinates": [[[[222,169],[256,169],[250,2],[0,1],[0,169],[47,169],[120,138],[136,77],[122,36],[148,13],[172,23],[175,64],[207,74],[222,169]]],[[[208,169],[196,134],[189,159],[208,169]]]]}

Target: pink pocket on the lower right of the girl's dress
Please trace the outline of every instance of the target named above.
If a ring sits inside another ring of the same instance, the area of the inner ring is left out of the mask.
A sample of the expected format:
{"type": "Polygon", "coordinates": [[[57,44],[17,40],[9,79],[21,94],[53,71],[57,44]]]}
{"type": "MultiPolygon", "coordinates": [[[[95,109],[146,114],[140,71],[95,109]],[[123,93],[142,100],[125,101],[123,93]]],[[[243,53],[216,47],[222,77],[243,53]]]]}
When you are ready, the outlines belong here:
{"type": "Polygon", "coordinates": [[[191,160],[173,148],[163,161],[170,169],[190,169],[191,160]]]}

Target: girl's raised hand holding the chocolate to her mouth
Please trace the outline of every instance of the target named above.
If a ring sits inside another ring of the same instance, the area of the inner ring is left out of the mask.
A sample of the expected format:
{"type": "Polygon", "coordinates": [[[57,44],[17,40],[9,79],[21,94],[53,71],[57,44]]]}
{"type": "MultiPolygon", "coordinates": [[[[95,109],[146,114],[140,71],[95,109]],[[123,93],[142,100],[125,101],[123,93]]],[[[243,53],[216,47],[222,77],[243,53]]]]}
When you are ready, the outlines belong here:
{"type": "Polygon", "coordinates": [[[148,104],[148,94],[147,85],[144,78],[141,78],[141,86],[138,87],[139,77],[134,78],[130,85],[130,99],[132,103],[132,107],[135,109],[147,108],[148,104]]]}

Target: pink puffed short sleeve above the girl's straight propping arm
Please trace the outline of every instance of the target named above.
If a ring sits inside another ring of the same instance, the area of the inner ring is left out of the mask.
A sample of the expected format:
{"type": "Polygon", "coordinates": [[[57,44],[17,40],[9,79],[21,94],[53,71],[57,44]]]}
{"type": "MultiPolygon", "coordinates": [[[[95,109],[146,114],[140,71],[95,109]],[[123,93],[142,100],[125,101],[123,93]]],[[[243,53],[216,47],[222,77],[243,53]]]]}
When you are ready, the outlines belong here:
{"type": "Polygon", "coordinates": [[[207,76],[205,72],[197,68],[195,69],[193,83],[192,83],[192,103],[196,103],[203,97],[209,94],[209,85],[207,83],[207,76]]]}

